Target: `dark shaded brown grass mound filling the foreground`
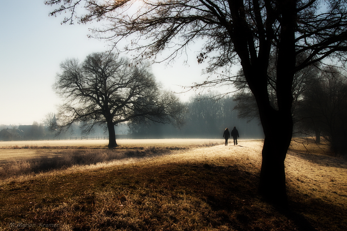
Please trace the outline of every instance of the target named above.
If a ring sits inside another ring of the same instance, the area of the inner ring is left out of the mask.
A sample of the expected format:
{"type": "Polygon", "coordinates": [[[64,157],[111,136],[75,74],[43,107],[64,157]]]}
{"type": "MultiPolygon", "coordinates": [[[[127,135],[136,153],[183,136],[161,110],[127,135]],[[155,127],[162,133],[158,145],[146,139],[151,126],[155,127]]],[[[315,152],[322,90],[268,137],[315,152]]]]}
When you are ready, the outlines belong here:
{"type": "Polygon", "coordinates": [[[12,182],[0,190],[0,229],[59,222],[65,230],[346,230],[345,208],[295,188],[291,211],[263,202],[258,174],[242,163],[192,160],[12,182]]]}

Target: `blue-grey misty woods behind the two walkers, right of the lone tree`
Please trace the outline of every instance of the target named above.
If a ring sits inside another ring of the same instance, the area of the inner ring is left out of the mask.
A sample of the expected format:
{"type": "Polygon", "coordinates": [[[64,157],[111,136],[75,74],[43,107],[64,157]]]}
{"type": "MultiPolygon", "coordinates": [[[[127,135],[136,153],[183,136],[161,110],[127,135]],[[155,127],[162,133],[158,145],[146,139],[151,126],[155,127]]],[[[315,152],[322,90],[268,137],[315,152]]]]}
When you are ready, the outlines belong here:
{"type": "Polygon", "coordinates": [[[257,121],[247,121],[238,117],[234,110],[236,102],[232,97],[214,99],[217,92],[192,96],[185,103],[183,125],[129,123],[129,133],[133,138],[217,138],[223,139],[226,127],[236,126],[242,138],[263,138],[262,128],[257,121]]]}

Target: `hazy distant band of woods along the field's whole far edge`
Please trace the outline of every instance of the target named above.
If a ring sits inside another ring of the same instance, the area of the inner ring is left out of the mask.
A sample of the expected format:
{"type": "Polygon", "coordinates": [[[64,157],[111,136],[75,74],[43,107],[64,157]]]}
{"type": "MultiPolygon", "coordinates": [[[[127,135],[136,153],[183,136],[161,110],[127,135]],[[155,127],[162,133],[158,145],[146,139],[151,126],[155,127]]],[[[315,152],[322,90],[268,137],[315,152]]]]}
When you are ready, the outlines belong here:
{"type": "MultiPolygon", "coordinates": [[[[260,122],[257,119],[247,123],[247,119],[238,118],[239,112],[234,109],[236,102],[232,97],[219,100],[211,98],[212,94],[191,97],[186,103],[187,112],[183,116],[184,123],[180,127],[171,124],[159,124],[154,122],[141,124],[120,124],[116,126],[116,139],[168,139],[168,138],[217,138],[223,139],[226,127],[231,130],[234,126],[239,131],[240,138],[263,138],[264,134],[260,122]]],[[[3,128],[18,128],[13,125],[1,125],[3,128]]],[[[21,126],[23,127],[23,126],[21,126]]],[[[31,130],[21,138],[24,140],[39,139],[65,139],[65,137],[83,137],[79,124],[75,124],[70,131],[55,136],[49,131],[48,122],[34,122],[31,130]]],[[[108,136],[102,126],[95,126],[89,137],[108,136]]],[[[77,138],[78,139],[78,138],[77,138]]]]}

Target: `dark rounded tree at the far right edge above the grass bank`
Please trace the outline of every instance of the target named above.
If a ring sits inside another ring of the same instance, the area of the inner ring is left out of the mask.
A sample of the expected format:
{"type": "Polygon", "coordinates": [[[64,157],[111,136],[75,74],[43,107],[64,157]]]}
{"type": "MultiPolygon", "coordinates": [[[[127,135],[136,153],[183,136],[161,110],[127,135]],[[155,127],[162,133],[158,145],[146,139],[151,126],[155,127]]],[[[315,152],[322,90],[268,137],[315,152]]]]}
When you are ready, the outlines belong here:
{"type": "Polygon", "coordinates": [[[347,79],[335,67],[325,66],[320,81],[305,92],[300,105],[301,125],[322,135],[338,156],[347,157],[347,79]]]}

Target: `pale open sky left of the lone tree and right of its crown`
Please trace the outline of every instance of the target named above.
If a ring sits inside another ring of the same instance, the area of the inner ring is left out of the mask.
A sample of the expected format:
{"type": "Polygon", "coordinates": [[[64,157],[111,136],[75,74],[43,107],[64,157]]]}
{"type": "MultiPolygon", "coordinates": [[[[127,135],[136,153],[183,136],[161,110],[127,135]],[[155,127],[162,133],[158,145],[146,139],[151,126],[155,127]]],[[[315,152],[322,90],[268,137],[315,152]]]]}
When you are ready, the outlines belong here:
{"type": "MultiPolygon", "coordinates": [[[[0,1],[0,125],[31,125],[56,113],[62,99],[52,84],[59,64],[109,49],[105,41],[87,37],[93,25],[61,25],[64,16],[49,16],[52,10],[44,0],[0,1]]],[[[192,50],[186,64],[180,59],[170,65],[153,65],[156,79],[175,92],[184,90],[180,86],[202,82],[206,77],[201,75],[203,66],[196,55],[192,50]]],[[[193,94],[179,97],[188,101],[193,94]]]]}

